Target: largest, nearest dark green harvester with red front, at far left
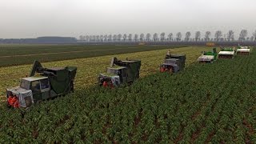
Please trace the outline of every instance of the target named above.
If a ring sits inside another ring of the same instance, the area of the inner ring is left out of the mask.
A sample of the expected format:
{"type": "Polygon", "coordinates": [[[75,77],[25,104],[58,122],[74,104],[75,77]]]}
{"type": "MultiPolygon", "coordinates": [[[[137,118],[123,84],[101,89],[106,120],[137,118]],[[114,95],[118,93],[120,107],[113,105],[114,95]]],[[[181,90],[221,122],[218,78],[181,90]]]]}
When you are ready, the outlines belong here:
{"type": "Polygon", "coordinates": [[[6,89],[7,106],[28,108],[73,92],[76,71],[75,66],[43,68],[40,62],[34,61],[29,77],[22,78],[20,86],[6,89]]]}

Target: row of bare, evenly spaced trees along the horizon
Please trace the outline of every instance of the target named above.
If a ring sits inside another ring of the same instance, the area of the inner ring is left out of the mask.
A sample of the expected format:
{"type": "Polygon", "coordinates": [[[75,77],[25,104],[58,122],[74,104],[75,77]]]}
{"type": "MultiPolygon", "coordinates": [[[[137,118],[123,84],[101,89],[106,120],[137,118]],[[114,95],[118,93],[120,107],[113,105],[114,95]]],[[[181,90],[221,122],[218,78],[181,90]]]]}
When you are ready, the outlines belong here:
{"type": "Polygon", "coordinates": [[[151,34],[105,34],[105,35],[80,35],[79,40],[81,42],[234,42],[234,41],[251,41],[256,42],[256,30],[251,37],[248,37],[247,30],[241,30],[238,39],[234,39],[234,30],[229,30],[228,33],[223,34],[222,30],[217,30],[214,34],[214,38],[211,38],[211,32],[206,31],[202,36],[200,31],[196,31],[194,38],[191,37],[191,32],[188,31],[185,34],[185,38],[182,39],[182,33],[178,32],[176,37],[173,33],[166,35],[161,33],[158,37],[157,33],[151,34]]]}

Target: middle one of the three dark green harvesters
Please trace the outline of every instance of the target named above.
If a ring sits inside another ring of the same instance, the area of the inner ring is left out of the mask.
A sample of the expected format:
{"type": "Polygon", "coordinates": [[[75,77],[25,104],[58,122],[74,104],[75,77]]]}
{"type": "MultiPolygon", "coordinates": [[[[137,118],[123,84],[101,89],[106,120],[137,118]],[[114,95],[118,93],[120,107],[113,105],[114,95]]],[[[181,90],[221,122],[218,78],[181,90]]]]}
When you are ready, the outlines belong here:
{"type": "Polygon", "coordinates": [[[112,58],[110,67],[106,73],[98,74],[98,85],[104,87],[120,86],[124,83],[132,83],[139,78],[139,70],[141,67],[140,60],[118,60],[112,58]]]}

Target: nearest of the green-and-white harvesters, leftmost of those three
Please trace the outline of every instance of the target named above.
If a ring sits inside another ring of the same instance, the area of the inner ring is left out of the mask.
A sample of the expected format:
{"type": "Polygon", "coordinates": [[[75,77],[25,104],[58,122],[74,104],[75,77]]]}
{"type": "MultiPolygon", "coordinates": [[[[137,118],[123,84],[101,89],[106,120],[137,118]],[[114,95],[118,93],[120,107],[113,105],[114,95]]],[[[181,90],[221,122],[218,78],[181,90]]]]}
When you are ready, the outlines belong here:
{"type": "Polygon", "coordinates": [[[202,51],[202,55],[198,58],[200,63],[212,63],[217,59],[216,48],[213,48],[212,51],[202,51]]]}

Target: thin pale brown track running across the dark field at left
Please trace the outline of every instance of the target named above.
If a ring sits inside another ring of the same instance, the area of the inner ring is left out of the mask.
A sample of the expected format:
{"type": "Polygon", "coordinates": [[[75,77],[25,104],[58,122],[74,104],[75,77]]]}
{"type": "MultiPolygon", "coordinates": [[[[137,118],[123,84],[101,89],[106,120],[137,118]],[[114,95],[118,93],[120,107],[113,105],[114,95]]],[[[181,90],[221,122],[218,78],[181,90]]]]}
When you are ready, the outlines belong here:
{"type": "MultiPolygon", "coordinates": [[[[138,47],[127,47],[129,49],[134,49],[138,47]]],[[[27,57],[27,56],[34,56],[34,55],[48,55],[48,54],[69,54],[69,53],[79,53],[79,52],[86,52],[86,51],[106,51],[106,50],[121,50],[124,48],[114,48],[114,49],[99,49],[99,50],[75,50],[75,51],[63,51],[63,52],[54,52],[54,53],[42,53],[42,54],[21,54],[21,55],[7,55],[1,56],[0,58],[13,58],[13,57],[27,57]]]]}

